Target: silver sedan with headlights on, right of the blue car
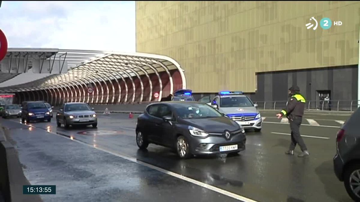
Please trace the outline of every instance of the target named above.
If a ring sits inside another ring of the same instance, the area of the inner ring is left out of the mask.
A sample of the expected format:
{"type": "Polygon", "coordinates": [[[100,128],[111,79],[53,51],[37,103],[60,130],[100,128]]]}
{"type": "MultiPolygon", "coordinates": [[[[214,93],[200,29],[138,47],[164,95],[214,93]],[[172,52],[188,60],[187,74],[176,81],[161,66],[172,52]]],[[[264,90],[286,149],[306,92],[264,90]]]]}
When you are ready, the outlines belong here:
{"type": "Polygon", "coordinates": [[[56,123],[58,127],[63,124],[65,128],[69,128],[70,125],[92,125],[96,128],[98,117],[89,105],[83,102],[69,102],[60,107],[56,115],[56,123]]]}

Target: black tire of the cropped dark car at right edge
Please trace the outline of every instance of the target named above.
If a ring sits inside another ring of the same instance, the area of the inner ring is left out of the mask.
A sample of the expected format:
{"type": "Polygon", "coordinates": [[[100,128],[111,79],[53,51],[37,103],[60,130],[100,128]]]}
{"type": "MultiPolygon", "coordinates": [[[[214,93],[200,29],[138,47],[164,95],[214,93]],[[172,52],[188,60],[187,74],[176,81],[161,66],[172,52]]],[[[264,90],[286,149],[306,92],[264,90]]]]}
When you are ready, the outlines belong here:
{"type": "Polygon", "coordinates": [[[355,193],[355,189],[360,186],[360,182],[357,182],[355,178],[359,179],[357,174],[360,172],[360,163],[356,163],[347,167],[344,171],[344,185],[346,192],[354,201],[360,201],[360,192],[355,193]]]}

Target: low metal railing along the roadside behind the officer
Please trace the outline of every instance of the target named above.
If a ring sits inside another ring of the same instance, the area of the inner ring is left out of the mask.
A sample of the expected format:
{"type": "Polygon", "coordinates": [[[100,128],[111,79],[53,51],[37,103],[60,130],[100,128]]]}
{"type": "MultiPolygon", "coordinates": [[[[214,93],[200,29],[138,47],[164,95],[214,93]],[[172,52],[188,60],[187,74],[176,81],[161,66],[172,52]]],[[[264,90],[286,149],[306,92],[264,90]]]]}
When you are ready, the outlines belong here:
{"type": "MultiPolygon", "coordinates": [[[[287,101],[256,101],[259,109],[282,110],[285,109],[287,101]]],[[[320,102],[319,100],[306,101],[306,110],[322,111],[355,111],[360,106],[359,100],[331,100],[320,102]]]]}

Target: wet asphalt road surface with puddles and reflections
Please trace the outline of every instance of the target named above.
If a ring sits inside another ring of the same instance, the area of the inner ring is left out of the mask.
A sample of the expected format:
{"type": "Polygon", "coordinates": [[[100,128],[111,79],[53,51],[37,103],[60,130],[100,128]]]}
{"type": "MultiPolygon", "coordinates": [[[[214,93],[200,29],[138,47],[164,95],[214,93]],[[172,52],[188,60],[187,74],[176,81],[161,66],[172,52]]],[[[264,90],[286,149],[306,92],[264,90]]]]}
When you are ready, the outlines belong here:
{"type": "Polygon", "coordinates": [[[345,121],[346,116],[304,118],[321,125],[303,121],[308,125],[301,127],[301,134],[311,136],[304,137],[310,152],[304,159],[284,155],[290,143],[289,125],[270,117],[272,112],[262,116],[266,117],[262,132],[247,133],[246,150],[240,155],[189,160],[179,160],[169,149],[151,144],[146,152],[138,150],[136,119],[128,119],[126,114],[99,114],[97,129],[58,128],[55,119],[51,123],[31,123],[36,127],[31,130],[18,119],[1,122],[10,128],[17,142],[28,180],[32,184],[57,185],[57,195],[42,195],[45,201],[232,201],[226,196],[229,192],[265,202],[351,201],[332,164],[336,133],[341,126],[335,120],[345,121]],[[114,154],[213,185],[224,194],[114,154]]]}

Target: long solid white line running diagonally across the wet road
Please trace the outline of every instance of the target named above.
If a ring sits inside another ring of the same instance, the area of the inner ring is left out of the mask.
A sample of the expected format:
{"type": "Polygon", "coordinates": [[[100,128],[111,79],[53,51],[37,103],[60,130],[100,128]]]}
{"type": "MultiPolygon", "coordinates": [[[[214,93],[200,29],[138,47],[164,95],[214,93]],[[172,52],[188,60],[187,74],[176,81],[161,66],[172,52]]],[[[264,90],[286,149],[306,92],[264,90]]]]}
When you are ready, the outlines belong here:
{"type": "MultiPolygon", "coordinates": [[[[19,122],[17,122],[17,121],[13,121],[13,122],[19,123],[19,122]]],[[[19,124],[22,124],[22,123],[19,123],[19,124]]],[[[24,125],[25,125],[25,124],[24,124],[24,125]]],[[[36,128],[36,127],[33,127],[33,128],[36,128]]],[[[135,130],[135,129],[134,129],[134,130],[135,130]]],[[[51,132],[51,131],[50,131],[50,132],[48,131],[48,133],[55,134],[55,135],[60,136],[60,137],[62,137],[62,138],[71,139],[70,137],[63,136],[63,135],[60,135],[60,134],[57,134],[57,133],[54,133],[54,132],[51,132]]],[[[110,153],[110,154],[112,154],[112,155],[121,157],[121,158],[123,158],[123,159],[129,160],[129,161],[132,161],[132,162],[135,162],[135,163],[137,163],[137,164],[140,164],[140,165],[143,165],[143,166],[152,168],[152,169],[157,170],[157,171],[159,171],[159,172],[161,172],[161,173],[165,173],[165,174],[171,175],[171,176],[173,176],[173,177],[175,177],[175,178],[182,179],[182,180],[184,180],[184,181],[186,181],[186,182],[190,182],[190,183],[196,184],[196,185],[198,185],[198,186],[200,186],[200,187],[213,190],[214,192],[223,194],[223,195],[225,195],[225,196],[228,196],[228,197],[231,197],[231,198],[235,198],[235,199],[240,200],[240,201],[243,201],[243,202],[257,202],[257,201],[254,201],[254,200],[250,199],[250,198],[246,198],[246,197],[244,197],[244,196],[240,196],[240,195],[238,195],[238,194],[235,194],[235,193],[226,191],[226,190],[224,190],[224,189],[220,189],[220,188],[214,187],[214,186],[212,186],[212,185],[210,185],[210,184],[206,184],[206,183],[203,183],[203,182],[199,182],[199,181],[197,181],[197,180],[195,180],[195,179],[186,177],[186,176],[184,176],[184,175],[180,175],[180,174],[177,174],[177,173],[174,173],[174,172],[171,172],[171,171],[162,169],[162,168],[160,168],[160,167],[157,167],[157,166],[154,166],[154,165],[145,163],[145,162],[140,161],[140,160],[138,160],[138,159],[136,159],[136,158],[134,158],[134,157],[127,156],[127,155],[123,155],[123,154],[120,154],[120,153],[115,153],[115,152],[108,151],[108,150],[105,150],[105,149],[103,149],[103,148],[100,148],[100,147],[96,146],[96,144],[94,144],[93,146],[91,146],[91,145],[89,145],[89,144],[87,144],[87,143],[78,141],[78,140],[76,140],[76,139],[71,139],[71,140],[72,140],[72,141],[75,141],[75,142],[77,142],[77,143],[84,144],[84,145],[86,145],[86,146],[88,146],[88,147],[93,147],[93,148],[96,148],[96,149],[98,149],[98,150],[101,150],[101,151],[110,153]]]]}

